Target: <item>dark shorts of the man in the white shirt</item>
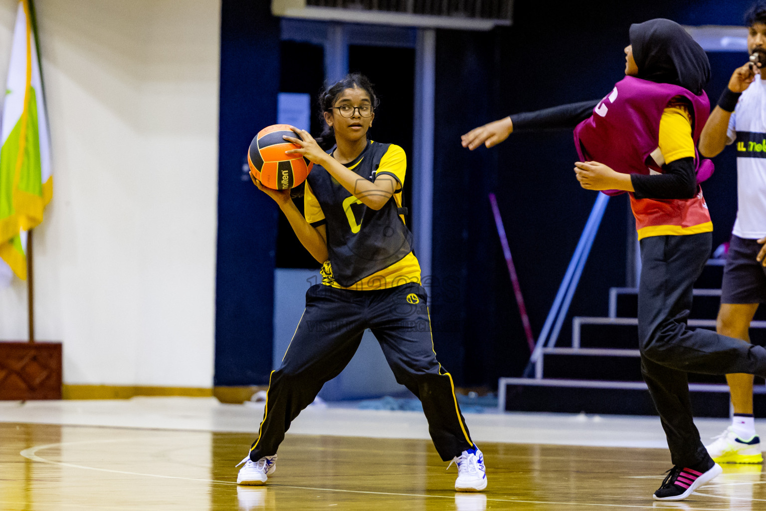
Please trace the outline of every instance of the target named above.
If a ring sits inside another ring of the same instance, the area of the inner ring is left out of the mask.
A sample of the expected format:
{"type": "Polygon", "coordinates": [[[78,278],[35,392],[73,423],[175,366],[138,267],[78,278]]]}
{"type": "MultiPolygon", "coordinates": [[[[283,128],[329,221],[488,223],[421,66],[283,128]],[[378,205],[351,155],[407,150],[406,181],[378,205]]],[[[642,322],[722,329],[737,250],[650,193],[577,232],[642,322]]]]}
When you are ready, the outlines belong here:
{"type": "Polygon", "coordinates": [[[732,234],[723,268],[721,303],[766,302],[766,268],[755,260],[761,244],[732,234]]]}

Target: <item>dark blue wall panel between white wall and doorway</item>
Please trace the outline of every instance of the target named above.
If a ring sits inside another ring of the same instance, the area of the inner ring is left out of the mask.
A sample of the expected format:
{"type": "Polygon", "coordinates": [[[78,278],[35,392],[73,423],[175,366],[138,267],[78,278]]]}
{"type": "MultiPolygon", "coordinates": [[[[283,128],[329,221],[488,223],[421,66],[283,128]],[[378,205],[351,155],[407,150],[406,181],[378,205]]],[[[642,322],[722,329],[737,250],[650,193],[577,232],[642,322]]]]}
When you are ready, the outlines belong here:
{"type": "Polygon", "coordinates": [[[265,384],[278,209],[250,182],[247,147],[277,122],[280,26],[268,0],[223,0],[215,385],[265,384]]]}

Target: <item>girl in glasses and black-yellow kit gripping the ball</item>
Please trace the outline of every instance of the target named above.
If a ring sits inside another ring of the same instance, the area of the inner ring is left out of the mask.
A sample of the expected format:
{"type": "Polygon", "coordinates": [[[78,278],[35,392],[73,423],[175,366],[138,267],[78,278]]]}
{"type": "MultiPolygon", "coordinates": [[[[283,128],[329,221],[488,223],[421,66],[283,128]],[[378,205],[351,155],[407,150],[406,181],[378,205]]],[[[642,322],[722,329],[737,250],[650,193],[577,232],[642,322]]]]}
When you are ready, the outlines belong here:
{"type": "Polygon", "coordinates": [[[319,104],[326,122],[322,139],[334,138],[332,149],[323,151],[303,129],[294,129],[300,138],[285,137],[300,146],[288,153],[314,163],[306,179],[306,218],[289,190],[277,192],[254,179],[322,263],[322,283],[306,293],[306,311],[282,365],[271,373],[264,420],[237,483],[266,483],[290,422],[339,375],[371,329],[397,382],[423,403],[440,457],[457,463],[455,490],[483,490],[483,454],[470,439],[452,376],[437,362],[421,270],[401,215],[404,151],[367,138],[378,99],[366,77],[346,76],[322,92],[319,104]]]}

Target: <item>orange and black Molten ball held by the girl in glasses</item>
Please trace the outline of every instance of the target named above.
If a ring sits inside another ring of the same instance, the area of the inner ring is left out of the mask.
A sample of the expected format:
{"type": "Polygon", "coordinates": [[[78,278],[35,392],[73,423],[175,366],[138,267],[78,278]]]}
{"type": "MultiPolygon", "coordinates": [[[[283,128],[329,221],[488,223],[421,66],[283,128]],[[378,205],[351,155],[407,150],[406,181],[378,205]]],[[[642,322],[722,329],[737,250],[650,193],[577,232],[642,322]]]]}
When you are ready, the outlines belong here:
{"type": "Polygon", "coordinates": [[[285,135],[300,139],[290,126],[273,124],[258,132],[247,151],[250,171],[264,186],[274,190],[300,185],[314,165],[300,154],[285,154],[285,151],[300,147],[283,139],[285,135]]]}

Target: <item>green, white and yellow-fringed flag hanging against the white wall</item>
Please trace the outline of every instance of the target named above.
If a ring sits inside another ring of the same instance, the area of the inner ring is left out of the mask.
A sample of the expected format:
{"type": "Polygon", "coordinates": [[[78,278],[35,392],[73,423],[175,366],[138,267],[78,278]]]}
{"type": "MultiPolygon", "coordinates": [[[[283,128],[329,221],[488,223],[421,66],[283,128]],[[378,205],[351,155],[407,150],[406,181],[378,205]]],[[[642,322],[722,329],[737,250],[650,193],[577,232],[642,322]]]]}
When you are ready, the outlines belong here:
{"type": "Polygon", "coordinates": [[[8,65],[0,148],[0,283],[27,278],[26,234],[53,195],[51,145],[31,0],[20,0],[8,65]],[[5,276],[5,278],[4,278],[5,276]]]}

